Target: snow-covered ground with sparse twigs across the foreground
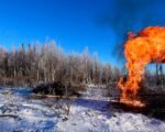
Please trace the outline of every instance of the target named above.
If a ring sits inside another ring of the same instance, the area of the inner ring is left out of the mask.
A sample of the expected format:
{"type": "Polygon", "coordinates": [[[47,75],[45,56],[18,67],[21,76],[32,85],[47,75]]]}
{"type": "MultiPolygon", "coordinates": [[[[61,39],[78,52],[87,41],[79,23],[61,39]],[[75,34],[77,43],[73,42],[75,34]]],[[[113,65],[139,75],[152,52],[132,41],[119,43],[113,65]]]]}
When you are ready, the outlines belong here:
{"type": "Polygon", "coordinates": [[[165,121],[116,110],[105,90],[89,87],[81,98],[57,100],[0,89],[0,132],[164,132],[165,121]]]}

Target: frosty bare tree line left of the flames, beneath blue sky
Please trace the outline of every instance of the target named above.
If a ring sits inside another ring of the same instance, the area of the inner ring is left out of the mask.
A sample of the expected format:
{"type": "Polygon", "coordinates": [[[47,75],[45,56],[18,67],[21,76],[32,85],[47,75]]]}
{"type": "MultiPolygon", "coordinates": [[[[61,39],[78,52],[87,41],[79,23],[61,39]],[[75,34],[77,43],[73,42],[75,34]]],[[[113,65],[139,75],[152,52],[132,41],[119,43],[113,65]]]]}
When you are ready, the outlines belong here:
{"type": "Polygon", "coordinates": [[[118,80],[120,72],[97,55],[65,53],[54,41],[24,44],[20,48],[0,48],[0,84],[29,85],[40,82],[108,84],[118,80]]]}

